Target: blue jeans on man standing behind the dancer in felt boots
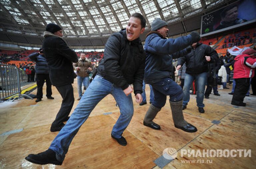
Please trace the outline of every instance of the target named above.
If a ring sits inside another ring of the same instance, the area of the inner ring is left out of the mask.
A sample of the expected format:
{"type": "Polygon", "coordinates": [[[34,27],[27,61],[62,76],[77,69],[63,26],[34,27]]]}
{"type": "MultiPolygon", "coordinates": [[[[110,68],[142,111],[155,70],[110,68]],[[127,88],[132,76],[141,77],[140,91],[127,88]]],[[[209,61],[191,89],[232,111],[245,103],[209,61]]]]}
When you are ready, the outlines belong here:
{"type": "Polygon", "coordinates": [[[204,90],[205,90],[205,84],[207,81],[207,72],[203,72],[200,74],[185,74],[185,80],[184,80],[184,87],[183,87],[183,106],[187,106],[189,100],[190,100],[190,93],[189,89],[190,86],[195,80],[196,87],[197,87],[197,94],[196,94],[196,103],[197,107],[204,107],[203,101],[204,101],[204,90]]]}

